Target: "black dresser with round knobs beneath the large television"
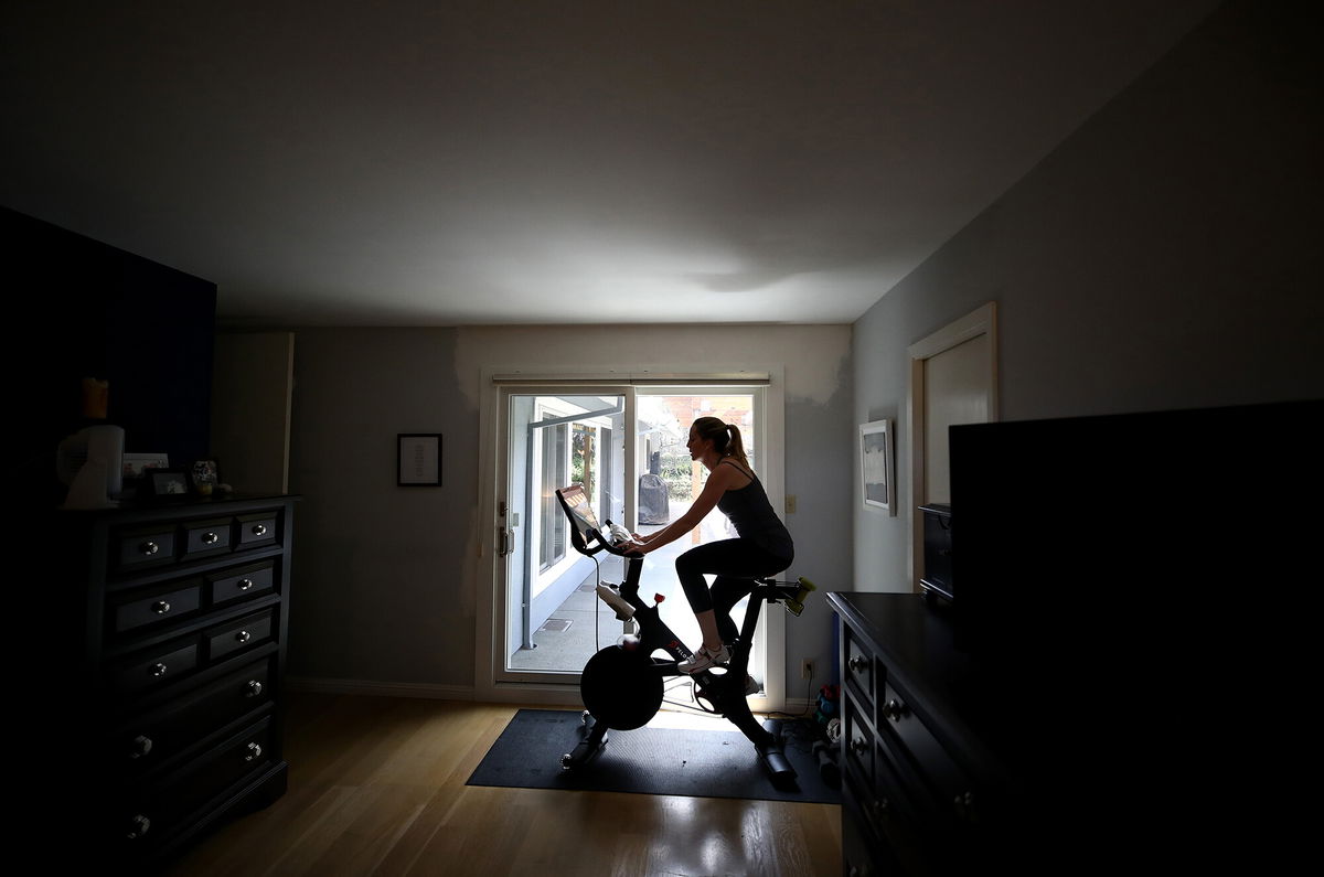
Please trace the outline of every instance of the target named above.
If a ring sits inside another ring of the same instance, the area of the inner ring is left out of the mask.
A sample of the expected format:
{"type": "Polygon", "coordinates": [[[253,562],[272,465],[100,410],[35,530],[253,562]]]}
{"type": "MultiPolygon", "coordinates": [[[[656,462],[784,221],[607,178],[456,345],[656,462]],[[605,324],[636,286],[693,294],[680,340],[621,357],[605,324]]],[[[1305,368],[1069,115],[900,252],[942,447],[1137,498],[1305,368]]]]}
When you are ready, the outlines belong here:
{"type": "Polygon", "coordinates": [[[1119,584],[1045,596],[1033,623],[1002,616],[972,636],[984,616],[945,600],[829,593],[845,873],[1305,861],[1319,637],[1313,613],[1268,596],[1119,584]]]}

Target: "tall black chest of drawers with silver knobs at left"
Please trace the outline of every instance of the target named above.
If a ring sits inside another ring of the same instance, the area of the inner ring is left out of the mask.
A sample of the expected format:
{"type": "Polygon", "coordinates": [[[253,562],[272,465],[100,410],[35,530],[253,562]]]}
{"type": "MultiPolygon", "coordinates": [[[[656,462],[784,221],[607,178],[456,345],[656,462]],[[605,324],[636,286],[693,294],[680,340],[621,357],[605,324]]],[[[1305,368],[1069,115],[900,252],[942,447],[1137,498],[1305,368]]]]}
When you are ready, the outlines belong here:
{"type": "Polygon", "coordinates": [[[58,624],[38,697],[60,832],[115,865],[166,861],[286,788],[294,497],[58,513],[58,624]]]}

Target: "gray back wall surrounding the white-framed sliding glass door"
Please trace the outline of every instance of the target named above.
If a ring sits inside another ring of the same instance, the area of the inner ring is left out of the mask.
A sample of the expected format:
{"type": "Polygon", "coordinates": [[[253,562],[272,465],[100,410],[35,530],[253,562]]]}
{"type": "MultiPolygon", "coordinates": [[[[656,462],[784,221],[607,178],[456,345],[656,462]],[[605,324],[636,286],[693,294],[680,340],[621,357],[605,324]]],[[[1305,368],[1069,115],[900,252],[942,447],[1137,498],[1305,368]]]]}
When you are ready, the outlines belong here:
{"type": "MultiPolygon", "coordinates": [[[[305,329],[297,333],[290,490],[297,509],[290,676],[462,697],[475,682],[483,366],[569,372],[719,362],[785,375],[793,574],[850,587],[849,326],[305,329]],[[711,358],[711,359],[710,359],[711,358]],[[444,435],[444,486],[396,486],[396,433],[444,435]]],[[[780,611],[780,609],[779,609],[780,611]]],[[[786,696],[829,681],[821,595],[786,624],[786,696]],[[800,678],[802,658],[816,678],[800,678]]]]}

